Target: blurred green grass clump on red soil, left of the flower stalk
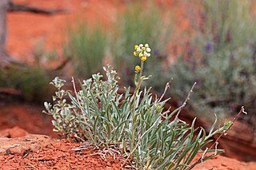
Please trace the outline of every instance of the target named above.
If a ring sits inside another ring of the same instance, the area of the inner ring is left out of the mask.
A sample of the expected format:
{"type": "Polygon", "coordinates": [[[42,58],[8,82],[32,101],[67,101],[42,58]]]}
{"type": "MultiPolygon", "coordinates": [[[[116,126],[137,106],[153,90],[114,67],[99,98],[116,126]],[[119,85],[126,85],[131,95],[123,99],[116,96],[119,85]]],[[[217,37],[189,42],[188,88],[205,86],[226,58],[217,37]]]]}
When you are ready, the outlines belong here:
{"type": "Polygon", "coordinates": [[[70,28],[69,38],[64,47],[64,55],[73,59],[75,73],[90,77],[100,72],[106,56],[107,35],[102,26],[88,26],[86,21],[78,21],[70,28]]]}

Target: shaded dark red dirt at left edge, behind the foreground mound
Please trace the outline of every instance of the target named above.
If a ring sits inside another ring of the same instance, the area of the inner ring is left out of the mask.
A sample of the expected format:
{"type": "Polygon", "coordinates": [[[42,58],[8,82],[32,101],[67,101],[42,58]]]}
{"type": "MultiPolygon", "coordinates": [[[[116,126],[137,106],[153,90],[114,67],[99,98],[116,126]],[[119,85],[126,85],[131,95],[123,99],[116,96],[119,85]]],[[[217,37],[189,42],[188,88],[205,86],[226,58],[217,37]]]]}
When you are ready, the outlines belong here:
{"type": "MultiPolygon", "coordinates": [[[[0,99],[6,101],[6,99],[0,99]]],[[[19,131],[19,128],[34,134],[58,137],[57,133],[53,132],[52,117],[43,114],[42,109],[43,107],[38,105],[14,101],[0,102],[0,130],[13,128],[0,132],[0,137],[16,137],[26,134],[26,132],[19,131]],[[15,126],[19,128],[14,128],[15,126]]]]}

